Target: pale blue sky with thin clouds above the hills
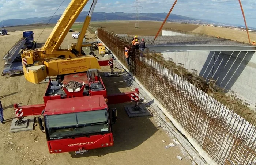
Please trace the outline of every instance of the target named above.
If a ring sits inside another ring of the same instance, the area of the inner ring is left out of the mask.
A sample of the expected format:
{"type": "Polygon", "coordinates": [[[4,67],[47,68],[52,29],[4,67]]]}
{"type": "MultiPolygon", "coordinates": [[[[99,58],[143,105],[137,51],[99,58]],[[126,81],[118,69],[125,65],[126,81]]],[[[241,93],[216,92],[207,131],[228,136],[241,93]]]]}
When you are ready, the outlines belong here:
{"type": "MultiPolygon", "coordinates": [[[[71,0],[64,0],[55,15],[62,14],[71,0]]],[[[52,16],[63,0],[0,0],[0,21],[52,16]]],[[[139,0],[140,12],[168,13],[174,0],[139,0]]],[[[88,11],[89,0],[83,11],[88,11]]],[[[248,26],[256,27],[256,0],[241,0],[248,26]]],[[[135,12],[135,0],[98,0],[96,12],[135,12]]],[[[178,0],[173,14],[244,25],[238,0],[178,0]]],[[[93,17],[93,15],[92,15],[93,17]]]]}

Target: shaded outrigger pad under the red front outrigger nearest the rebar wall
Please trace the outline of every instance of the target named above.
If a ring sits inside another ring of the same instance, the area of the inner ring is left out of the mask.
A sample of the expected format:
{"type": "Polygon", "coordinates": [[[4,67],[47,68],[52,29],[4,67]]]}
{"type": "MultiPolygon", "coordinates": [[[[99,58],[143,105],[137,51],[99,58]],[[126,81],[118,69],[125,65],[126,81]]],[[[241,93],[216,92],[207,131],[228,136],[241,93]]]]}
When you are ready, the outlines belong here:
{"type": "Polygon", "coordinates": [[[132,105],[124,106],[124,108],[130,118],[152,115],[145,104],[139,104],[137,107],[132,105]]]}

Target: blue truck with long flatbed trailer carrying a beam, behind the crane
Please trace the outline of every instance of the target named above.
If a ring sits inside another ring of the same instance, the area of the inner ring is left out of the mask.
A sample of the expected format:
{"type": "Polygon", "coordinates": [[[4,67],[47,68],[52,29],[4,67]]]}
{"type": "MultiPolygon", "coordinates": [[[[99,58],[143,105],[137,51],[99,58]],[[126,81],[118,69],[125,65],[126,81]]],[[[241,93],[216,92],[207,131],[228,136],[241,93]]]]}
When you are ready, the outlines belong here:
{"type": "Polygon", "coordinates": [[[23,32],[22,38],[5,54],[3,60],[5,60],[4,69],[2,76],[10,76],[14,74],[22,74],[22,60],[21,54],[24,49],[33,49],[34,44],[34,33],[33,31],[23,32]]]}

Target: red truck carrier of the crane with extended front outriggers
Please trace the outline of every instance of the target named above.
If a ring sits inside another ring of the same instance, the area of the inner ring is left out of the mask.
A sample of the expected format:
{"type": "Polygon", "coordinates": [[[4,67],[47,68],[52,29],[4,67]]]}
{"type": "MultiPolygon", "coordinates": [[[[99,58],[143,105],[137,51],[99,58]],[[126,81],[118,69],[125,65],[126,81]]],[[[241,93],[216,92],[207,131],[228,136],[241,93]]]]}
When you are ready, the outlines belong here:
{"type": "MultiPolygon", "coordinates": [[[[44,104],[20,107],[14,104],[14,109],[16,117],[22,119],[43,116],[37,120],[40,129],[45,130],[50,153],[74,151],[82,154],[90,149],[114,145],[111,124],[117,120],[117,111],[108,105],[134,101],[136,106],[138,94],[136,88],[132,92],[107,95],[97,69],[88,69],[87,73],[57,76],[56,81],[50,80],[43,97],[44,104]]],[[[18,122],[25,123],[22,119],[18,122]]],[[[13,123],[16,124],[15,120],[13,123]]]]}

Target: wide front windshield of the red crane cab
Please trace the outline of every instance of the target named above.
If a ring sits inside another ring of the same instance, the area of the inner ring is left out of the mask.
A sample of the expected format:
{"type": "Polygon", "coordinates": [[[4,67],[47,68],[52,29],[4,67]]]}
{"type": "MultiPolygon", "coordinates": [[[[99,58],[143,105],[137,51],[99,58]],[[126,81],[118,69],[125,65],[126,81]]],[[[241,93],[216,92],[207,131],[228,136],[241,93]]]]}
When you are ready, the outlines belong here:
{"type": "Polygon", "coordinates": [[[107,110],[45,116],[50,139],[103,134],[109,131],[107,110]]]}

